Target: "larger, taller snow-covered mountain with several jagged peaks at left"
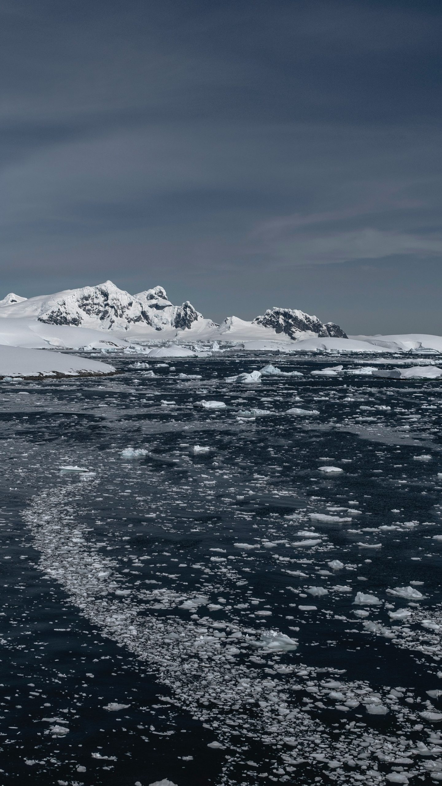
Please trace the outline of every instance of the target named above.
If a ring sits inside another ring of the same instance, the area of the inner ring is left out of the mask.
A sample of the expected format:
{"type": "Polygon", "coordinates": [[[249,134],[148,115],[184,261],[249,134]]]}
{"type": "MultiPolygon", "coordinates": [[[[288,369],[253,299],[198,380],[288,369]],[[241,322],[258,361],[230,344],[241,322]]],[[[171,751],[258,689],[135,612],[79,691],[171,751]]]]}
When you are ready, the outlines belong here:
{"type": "Polygon", "coordinates": [[[192,325],[215,328],[215,322],[204,319],[189,301],[174,306],[163,287],[146,289],[130,295],[112,281],[95,287],[66,289],[55,295],[42,295],[28,300],[7,295],[0,301],[0,317],[28,318],[46,325],[127,331],[148,328],[156,331],[172,328],[190,329],[192,325]]]}

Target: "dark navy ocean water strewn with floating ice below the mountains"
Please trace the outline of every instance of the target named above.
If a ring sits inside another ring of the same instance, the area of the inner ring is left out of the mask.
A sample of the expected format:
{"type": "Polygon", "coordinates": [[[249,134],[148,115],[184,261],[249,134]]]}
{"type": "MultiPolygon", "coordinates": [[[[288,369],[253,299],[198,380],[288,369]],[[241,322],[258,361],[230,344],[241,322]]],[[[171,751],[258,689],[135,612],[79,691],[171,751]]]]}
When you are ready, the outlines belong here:
{"type": "Polygon", "coordinates": [[[0,784],[442,780],[440,382],[135,362],[0,383],[0,784]]]}

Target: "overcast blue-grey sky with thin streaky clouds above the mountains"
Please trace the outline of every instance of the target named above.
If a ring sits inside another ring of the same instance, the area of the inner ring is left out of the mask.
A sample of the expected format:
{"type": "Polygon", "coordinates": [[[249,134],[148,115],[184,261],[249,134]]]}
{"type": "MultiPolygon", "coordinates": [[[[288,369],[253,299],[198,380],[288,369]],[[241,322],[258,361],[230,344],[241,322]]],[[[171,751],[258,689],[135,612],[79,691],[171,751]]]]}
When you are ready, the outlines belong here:
{"type": "Polygon", "coordinates": [[[0,296],[442,333],[442,6],[0,0],[0,296]]]}

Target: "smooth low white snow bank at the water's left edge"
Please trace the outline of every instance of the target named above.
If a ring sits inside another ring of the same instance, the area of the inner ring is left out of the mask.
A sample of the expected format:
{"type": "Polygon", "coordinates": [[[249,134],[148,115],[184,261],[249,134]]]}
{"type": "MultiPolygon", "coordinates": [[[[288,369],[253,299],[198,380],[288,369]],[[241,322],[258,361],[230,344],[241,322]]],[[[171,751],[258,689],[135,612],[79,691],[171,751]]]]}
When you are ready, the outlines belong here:
{"type": "Polygon", "coordinates": [[[79,376],[114,372],[108,363],[79,358],[76,354],[0,346],[0,376],[79,376]]]}

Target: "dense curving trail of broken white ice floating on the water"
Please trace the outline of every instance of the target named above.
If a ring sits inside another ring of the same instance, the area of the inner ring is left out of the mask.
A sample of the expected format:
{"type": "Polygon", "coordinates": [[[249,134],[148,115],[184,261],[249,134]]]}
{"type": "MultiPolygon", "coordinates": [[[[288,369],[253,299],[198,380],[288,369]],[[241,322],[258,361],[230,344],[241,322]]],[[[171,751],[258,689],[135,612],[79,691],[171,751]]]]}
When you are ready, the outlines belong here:
{"type": "MultiPolygon", "coordinates": [[[[155,590],[124,589],[126,579],[117,561],[101,556],[86,525],[76,520],[68,489],[39,494],[24,519],[46,576],[59,582],[104,637],[126,645],[155,672],[160,685],[174,692],[183,709],[212,729],[214,739],[208,747],[225,751],[219,786],[257,786],[267,775],[282,782],[306,782],[305,777],[311,782],[319,773],[345,786],[407,783],[408,777],[430,771],[433,780],[442,780],[442,762],[431,758],[442,751],[442,740],[432,727],[442,715],[434,712],[429,700],[410,707],[403,702],[405,689],[374,692],[366,681],[344,681],[336,669],[293,665],[293,656],[287,663],[267,663],[272,668],[266,673],[260,669],[265,656],[296,647],[278,631],[258,639],[236,623],[220,625],[207,616],[190,621],[156,617],[147,602],[155,590]],[[250,653],[249,665],[241,663],[238,656],[250,653]],[[365,713],[364,720],[374,718],[374,726],[378,717],[395,718],[394,735],[370,727],[362,731],[353,721],[333,740],[318,714],[332,708],[344,715],[356,707],[365,713]],[[417,733],[416,728],[424,731],[417,733]],[[416,740],[425,731],[426,744],[416,740]],[[267,756],[266,763],[249,761],[249,744],[253,757],[267,756]],[[395,780],[398,759],[408,765],[407,770],[400,765],[400,781],[395,780]]],[[[175,596],[176,604],[191,611],[208,602],[195,595],[175,596]]]]}

